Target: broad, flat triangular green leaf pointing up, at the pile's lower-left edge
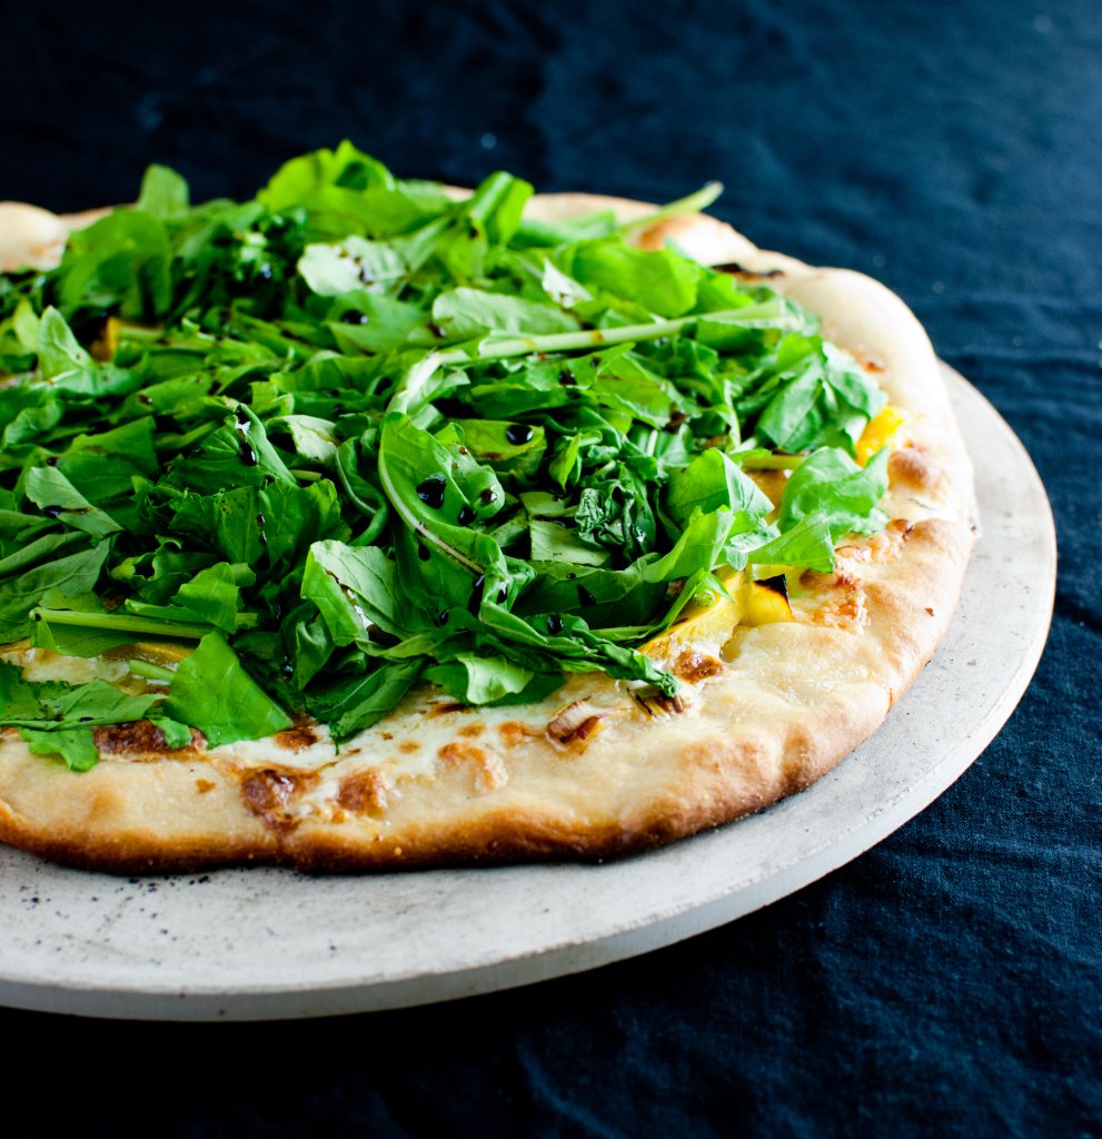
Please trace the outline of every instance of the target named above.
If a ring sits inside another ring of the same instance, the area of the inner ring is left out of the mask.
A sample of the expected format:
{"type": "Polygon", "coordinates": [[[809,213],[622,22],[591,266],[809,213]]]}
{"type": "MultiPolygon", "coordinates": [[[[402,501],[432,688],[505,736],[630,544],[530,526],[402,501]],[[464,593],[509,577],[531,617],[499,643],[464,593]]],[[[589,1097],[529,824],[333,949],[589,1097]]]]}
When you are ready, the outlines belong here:
{"type": "Polygon", "coordinates": [[[208,633],[176,667],[165,712],[198,728],[212,747],[258,739],[291,726],[286,712],[241,667],[220,633],[208,633]]]}

